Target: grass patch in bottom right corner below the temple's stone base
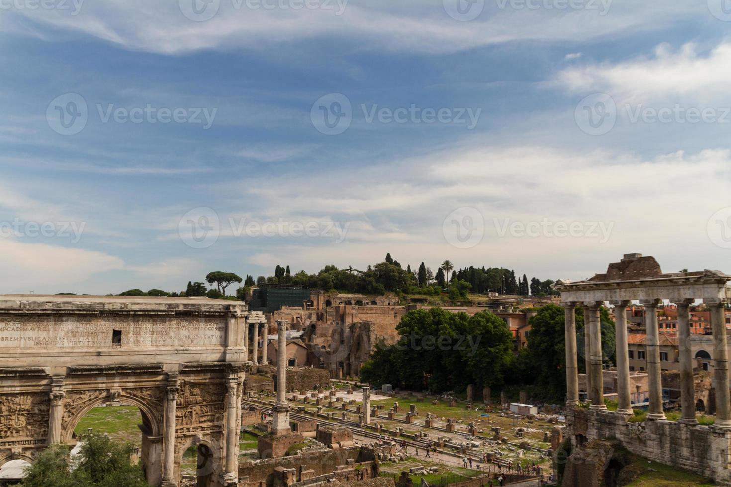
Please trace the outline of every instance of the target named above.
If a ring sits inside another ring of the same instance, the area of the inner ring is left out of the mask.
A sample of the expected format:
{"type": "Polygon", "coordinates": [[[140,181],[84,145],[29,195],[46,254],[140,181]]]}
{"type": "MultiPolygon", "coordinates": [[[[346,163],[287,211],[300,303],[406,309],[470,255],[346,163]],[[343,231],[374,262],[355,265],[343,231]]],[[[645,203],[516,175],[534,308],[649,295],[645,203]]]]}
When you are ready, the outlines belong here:
{"type": "Polygon", "coordinates": [[[692,472],[638,458],[622,469],[621,485],[626,487],[710,487],[716,484],[692,472]]]}

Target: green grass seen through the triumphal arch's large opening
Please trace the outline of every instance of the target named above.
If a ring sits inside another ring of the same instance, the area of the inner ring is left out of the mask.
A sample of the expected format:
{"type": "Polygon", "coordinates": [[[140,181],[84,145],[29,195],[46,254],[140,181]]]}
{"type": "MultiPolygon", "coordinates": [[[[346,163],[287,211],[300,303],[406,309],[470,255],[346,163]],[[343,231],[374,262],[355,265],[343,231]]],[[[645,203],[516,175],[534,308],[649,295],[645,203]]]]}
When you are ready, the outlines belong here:
{"type": "Polygon", "coordinates": [[[81,418],[74,432],[78,437],[93,428],[95,433],[108,433],[112,440],[142,444],[142,433],[137,428],[142,424],[142,415],[137,406],[123,405],[113,407],[94,407],[81,418]],[[128,413],[120,413],[121,411],[128,413]]]}

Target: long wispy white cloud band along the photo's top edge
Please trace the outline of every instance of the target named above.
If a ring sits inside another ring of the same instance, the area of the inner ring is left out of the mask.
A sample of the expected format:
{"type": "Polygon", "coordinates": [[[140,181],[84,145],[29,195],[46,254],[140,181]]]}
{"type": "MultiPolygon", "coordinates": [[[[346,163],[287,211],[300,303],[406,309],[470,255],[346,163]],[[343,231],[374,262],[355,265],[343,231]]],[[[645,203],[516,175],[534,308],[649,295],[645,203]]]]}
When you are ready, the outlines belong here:
{"type": "MultiPolygon", "coordinates": [[[[588,8],[501,9],[486,3],[485,11],[471,22],[450,18],[441,0],[351,0],[341,15],[336,15],[337,8],[237,9],[235,5],[245,6],[246,1],[221,0],[218,13],[205,22],[184,17],[177,1],[97,0],[83,4],[75,16],[42,9],[14,13],[129,49],[168,54],[212,48],[270,48],[279,42],[324,35],[367,41],[370,47],[387,50],[450,53],[514,40],[581,42],[623,31],[657,28],[689,15],[709,15],[705,5],[699,7],[691,0],[658,5],[615,0],[607,15],[588,8]]],[[[14,24],[12,19],[4,23],[14,24]]],[[[20,20],[15,23],[24,24],[20,20]]]]}

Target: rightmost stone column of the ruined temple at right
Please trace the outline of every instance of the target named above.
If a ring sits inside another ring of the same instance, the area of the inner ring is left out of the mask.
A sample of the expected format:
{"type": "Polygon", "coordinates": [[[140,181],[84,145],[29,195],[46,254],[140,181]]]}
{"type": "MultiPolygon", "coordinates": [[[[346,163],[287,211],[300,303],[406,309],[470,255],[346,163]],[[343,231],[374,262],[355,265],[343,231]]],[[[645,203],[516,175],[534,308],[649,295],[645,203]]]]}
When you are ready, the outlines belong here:
{"type": "Polygon", "coordinates": [[[716,388],[716,423],[713,426],[721,429],[731,429],[724,300],[704,299],[703,301],[708,304],[711,310],[711,331],[713,331],[713,387],[716,388]]]}

